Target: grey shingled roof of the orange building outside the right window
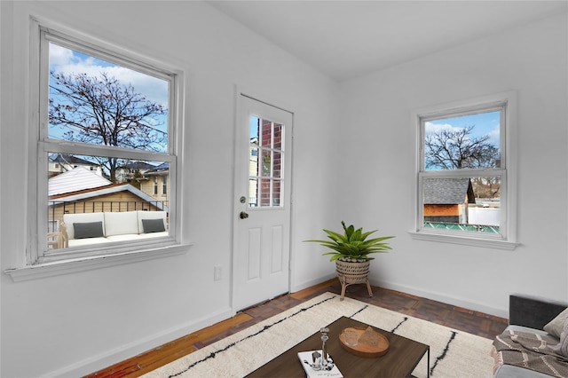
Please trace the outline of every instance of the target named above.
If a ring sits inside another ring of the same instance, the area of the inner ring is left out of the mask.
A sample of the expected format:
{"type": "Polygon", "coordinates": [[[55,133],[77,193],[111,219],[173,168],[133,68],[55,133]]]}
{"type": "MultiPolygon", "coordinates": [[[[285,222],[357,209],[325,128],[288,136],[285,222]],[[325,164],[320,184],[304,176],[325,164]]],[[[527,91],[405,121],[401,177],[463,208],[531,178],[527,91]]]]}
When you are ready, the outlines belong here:
{"type": "Polygon", "coordinates": [[[476,201],[471,180],[467,177],[424,178],[422,193],[425,205],[455,205],[476,201]]]}

